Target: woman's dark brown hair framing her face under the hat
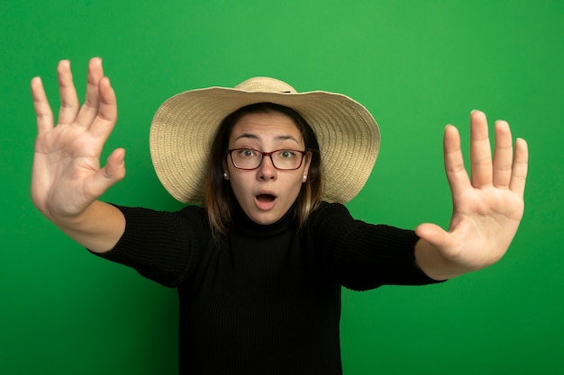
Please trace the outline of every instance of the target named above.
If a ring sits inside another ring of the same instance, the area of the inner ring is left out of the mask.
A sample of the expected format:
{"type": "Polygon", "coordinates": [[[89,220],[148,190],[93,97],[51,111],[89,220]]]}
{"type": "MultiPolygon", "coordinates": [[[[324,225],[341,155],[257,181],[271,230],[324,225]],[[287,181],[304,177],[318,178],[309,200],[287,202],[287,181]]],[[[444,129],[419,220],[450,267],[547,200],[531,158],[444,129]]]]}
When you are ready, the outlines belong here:
{"type": "Polygon", "coordinates": [[[300,227],[305,224],[310,213],[321,201],[323,191],[323,169],[317,137],[314,129],[301,114],[292,108],[275,103],[255,103],[241,107],[223,119],[215,133],[210,150],[205,175],[205,210],[212,230],[216,234],[226,234],[231,227],[232,207],[235,196],[231,184],[223,178],[223,163],[226,162],[226,150],[233,126],[246,114],[279,112],[289,117],[296,124],[304,138],[305,151],[311,156],[308,178],[302,183],[295,207],[295,219],[300,227]]]}

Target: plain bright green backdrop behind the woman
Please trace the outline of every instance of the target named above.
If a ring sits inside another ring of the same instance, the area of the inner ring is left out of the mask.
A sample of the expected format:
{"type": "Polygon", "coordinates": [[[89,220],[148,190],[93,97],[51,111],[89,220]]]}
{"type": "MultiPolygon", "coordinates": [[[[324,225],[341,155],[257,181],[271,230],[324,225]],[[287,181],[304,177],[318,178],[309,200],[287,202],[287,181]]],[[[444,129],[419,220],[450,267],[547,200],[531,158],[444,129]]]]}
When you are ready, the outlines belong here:
{"type": "MultiPolygon", "coordinates": [[[[564,2],[1,1],[0,373],[174,374],[177,300],[88,254],[29,198],[42,76],[101,56],[120,118],[105,156],[128,174],[104,199],[176,210],[150,163],[153,113],[172,94],[275,76],[365,104],[378,163],[348,204],[358,219],[448,226],[441,135],[468,114],[510,122],[529,142],[522,227],[505,258],[439,286],[343,292],[345,374],[564,373],[564,2]]],[[[468,150],[468,147],[465,147],[468,150]]]]}

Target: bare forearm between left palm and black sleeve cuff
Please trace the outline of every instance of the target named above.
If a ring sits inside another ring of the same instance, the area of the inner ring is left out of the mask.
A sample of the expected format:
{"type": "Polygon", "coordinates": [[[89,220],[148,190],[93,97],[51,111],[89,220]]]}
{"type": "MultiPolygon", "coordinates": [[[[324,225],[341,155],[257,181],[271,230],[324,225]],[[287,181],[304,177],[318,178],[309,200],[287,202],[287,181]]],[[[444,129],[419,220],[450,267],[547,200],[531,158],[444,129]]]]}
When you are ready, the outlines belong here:
{"type": "Polygon", "coordinates": [[[95,253],[114,248],[125,229],[122,211],[103,201],[95,201],[75,216],[48,216],[48,219],[68,237],[95,253]]]}

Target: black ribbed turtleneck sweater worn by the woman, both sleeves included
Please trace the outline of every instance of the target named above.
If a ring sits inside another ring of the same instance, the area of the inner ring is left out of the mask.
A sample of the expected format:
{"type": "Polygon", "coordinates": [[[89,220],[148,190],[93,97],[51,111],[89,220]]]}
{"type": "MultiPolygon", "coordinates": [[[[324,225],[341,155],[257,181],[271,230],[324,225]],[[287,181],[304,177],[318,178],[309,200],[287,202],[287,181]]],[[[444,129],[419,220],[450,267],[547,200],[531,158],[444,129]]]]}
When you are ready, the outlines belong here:
{"type": "Polygon", "coordinates": [[[301,230],[289,213],[262,226],[241,209],[211,236],[205,210],[119,207],[123,237],[101,256],[179,298],[181,374],[341,374],[341,286],[432,283],[414,264],[413,231],[322,203],[301,230]]]}

